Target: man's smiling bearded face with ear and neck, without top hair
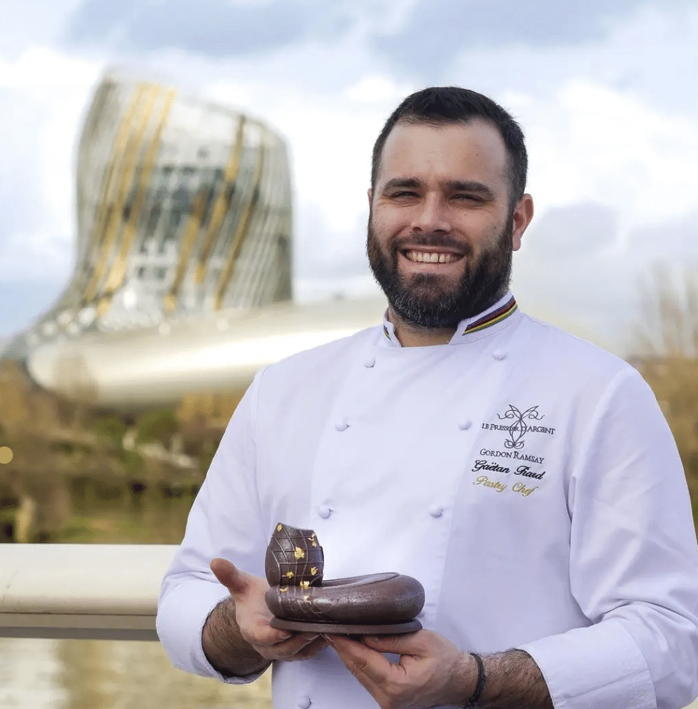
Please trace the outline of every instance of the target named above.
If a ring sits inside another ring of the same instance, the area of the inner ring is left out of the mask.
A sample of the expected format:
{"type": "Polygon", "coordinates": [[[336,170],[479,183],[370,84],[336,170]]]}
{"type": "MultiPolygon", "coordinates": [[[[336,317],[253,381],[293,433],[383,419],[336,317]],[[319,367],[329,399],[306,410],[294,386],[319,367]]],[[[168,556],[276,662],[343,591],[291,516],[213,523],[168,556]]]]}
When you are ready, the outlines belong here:
{"type": "Polygon", "coordinates": [[[379,144],[368,195],[370,266],[408,340],[413,332],[414,344],[446,342],[458,322],[507,292],[532,199],[514,184],[500,131],[483,118],[403,118],[379,144]]]}

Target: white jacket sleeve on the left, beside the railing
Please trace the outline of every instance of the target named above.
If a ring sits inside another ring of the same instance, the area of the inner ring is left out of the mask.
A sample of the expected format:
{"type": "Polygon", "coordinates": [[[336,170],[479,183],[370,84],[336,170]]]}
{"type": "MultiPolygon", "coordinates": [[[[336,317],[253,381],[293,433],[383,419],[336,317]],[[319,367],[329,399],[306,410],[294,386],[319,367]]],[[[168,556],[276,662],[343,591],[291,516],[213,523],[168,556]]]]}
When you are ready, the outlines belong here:
{"type": "Polygon", "coordinates": [[[266,542],[255,475],[261,374],[238,404],[191,507],[184,539],[163,580],[156,621],[158,637],[173,665],[236,684],[251,682],[262,672],[223,677],[203,653],[201,631],[208,614],[228,596],[208,567],[212,558],[227,558],[243,571],[263,576],[266,542]]]}

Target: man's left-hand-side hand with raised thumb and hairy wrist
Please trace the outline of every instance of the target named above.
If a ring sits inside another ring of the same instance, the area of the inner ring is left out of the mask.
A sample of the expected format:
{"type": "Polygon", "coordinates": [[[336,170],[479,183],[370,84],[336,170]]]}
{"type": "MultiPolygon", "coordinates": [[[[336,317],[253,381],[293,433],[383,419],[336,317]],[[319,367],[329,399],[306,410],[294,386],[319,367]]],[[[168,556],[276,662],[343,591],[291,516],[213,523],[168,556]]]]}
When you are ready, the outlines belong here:
{"type": "Polygon", "coordinates": [[[305,660],[327,647],[312,633],[288,633],[270,626],[273,618],[264,600],[268,583],[240,571],[230,561],[214,558],[211,571],[231,598],[218,604],[203,627],[208,661],[226,675],[261,670],[270,660],[305,660]]]}

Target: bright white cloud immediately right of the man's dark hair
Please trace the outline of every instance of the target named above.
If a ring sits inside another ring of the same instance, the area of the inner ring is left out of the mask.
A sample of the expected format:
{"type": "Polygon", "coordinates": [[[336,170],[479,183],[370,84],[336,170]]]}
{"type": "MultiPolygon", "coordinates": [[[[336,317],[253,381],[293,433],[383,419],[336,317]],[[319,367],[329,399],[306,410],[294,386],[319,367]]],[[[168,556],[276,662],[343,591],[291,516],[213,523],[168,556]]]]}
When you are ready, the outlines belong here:
{"type": "Polygon", "coordinates": [[[530,190],[544,210],[594,201],[627,231],[698,208],[698,121],[576,78],[551,101],[510,97],[528,136],[530,190]]]}

